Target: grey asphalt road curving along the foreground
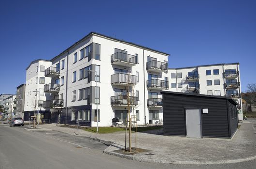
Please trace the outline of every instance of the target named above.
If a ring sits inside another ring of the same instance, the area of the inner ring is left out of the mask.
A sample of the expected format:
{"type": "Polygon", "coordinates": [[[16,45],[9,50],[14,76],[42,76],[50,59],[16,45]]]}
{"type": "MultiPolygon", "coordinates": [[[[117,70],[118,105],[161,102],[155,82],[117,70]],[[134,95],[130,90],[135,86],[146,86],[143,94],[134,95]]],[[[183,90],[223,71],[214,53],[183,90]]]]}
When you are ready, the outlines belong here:
{"type": "Polygon", "coordinates": [[[104,143],[57,131],[0,125],[0,169],[255,169],[256,160],[221,165],[136,162],[106,155],[104,143]]]}

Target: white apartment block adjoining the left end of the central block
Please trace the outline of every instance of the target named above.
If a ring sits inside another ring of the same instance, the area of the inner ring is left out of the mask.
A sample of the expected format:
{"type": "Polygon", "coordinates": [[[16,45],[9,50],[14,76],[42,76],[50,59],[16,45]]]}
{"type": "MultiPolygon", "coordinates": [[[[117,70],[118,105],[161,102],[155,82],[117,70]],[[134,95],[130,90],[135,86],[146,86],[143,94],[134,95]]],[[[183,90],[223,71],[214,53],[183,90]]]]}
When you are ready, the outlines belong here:
{"type": "Polygon", "coordinates": [[[35,110],[39,122],[49,116],[49,111],[43,108],[43,102],[49,97],[49,94],[44,93],[44,85],[51,82],[51,78],[45,77],[45,69],[50,66],[48,60],[34,60],[26,68],[24,120],[29,120],[35,110]]]}

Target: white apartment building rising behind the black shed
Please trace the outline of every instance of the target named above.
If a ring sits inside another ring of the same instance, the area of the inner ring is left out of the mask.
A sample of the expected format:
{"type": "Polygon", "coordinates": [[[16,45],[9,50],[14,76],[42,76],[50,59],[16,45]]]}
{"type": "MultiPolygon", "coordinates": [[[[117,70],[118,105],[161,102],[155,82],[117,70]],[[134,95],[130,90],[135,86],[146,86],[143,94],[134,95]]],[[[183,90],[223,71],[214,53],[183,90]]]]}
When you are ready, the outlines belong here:
{"type": "Polygon", "coordinates": [[[231,97],[243,120],[239,63],[169,68],[168,73],[170,91],[231,97]]]}

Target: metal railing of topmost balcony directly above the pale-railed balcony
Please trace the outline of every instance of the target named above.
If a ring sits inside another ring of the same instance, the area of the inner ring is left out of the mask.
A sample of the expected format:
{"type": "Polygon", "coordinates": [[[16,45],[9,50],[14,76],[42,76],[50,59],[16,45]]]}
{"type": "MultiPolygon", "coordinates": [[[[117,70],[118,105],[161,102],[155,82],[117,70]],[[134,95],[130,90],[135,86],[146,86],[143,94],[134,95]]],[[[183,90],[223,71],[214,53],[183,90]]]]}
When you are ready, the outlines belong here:
{"type": "Polygon", "coordinates": [[[125,62],[128,64],[135,65],[138,63],[138,56],[117,52],[111,55],[111,63],[114,63],[114,62],[125,62]]]}

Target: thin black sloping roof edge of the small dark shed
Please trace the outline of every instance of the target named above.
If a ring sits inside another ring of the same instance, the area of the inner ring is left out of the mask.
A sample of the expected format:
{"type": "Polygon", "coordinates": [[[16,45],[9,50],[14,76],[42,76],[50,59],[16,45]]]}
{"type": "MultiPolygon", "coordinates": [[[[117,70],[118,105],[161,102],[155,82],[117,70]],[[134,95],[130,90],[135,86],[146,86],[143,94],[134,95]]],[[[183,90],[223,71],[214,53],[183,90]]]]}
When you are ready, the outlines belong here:
{"type": "Polygon", "coordinates": [[[205,97],[205,98],[217,98],[217,99],[228,99],[234,105],[238,105],[238,103],[229,97],[226,96],[215,96],[215,95],[203,95],[203,94],[196,94],[196,93],[183,93],[183,92],[170,92],[170,91],[161,91],[161,94],[173,94],[173,95],[185,95],[185,96],[195,96],[195,97],[205,97]]]}

